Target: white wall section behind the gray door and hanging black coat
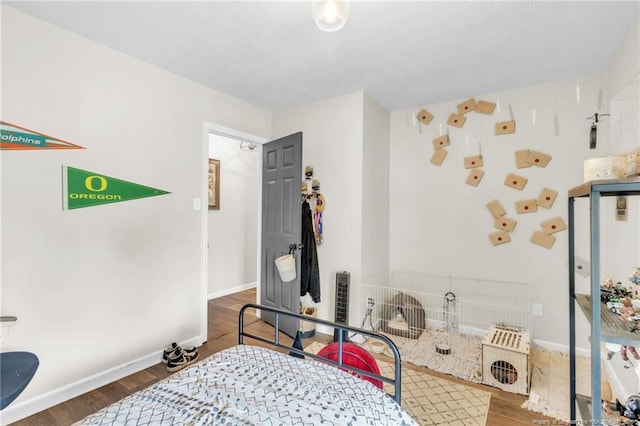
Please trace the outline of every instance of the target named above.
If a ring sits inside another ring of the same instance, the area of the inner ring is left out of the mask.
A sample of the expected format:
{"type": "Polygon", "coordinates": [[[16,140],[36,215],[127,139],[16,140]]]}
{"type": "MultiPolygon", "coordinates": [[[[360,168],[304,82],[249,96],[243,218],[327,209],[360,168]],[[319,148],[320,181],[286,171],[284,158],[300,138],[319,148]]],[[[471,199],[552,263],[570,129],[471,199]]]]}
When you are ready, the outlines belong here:
{"type": "Polygon", "coordinates": [[[361,276],[362,123],[362,92],[273,113],[272,139],[303,132],[303,165],[313,166],[326,200],[318,246],[320,318],[334,318],[336,272],[349,271],[352,282],[361,276]]]}

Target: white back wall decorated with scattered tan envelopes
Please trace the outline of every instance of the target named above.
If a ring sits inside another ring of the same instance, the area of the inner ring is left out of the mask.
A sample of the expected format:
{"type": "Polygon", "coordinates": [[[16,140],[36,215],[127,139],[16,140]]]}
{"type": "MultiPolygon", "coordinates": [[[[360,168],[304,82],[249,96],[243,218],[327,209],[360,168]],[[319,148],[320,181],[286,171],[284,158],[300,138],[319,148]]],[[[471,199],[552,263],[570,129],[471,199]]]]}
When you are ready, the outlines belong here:
{"type": "Polygon", "coordinates": [[[556,234],[550,250],[532,244],[530,237],[544,220],[559,216],[567,221],[567,190],[582,183],[583,160],[606,155],[606,132],[601,132],[596,151],[588,148],[590,122],[586,117],[597,111],[601,91],[606,99],[606,79],[592,75],[477,94],[476,100],[499,103],[499,110],[491,116],[471,112],[463,128],[449,127],[451,146],[441,166],[429,161],[434,151],[432,139],[440,136],[440,124],[447,131],[448,115],[464,99],[426,106],[435,118],[422,133],[411,117],[419,108],[392,113],[391,268],[528,283],[544,308],[544,316],[534,320],[534,338],[568,344],[567,232],[556,234]],[[511,119],[509,106],[516,133],[496,136],[494,124],[511,119]],[[479,142],[485,175],[473,187],[465,183],[469,171],[464,169],[463,158],[480,153],[479,142]],[[541,151],[552,160],[546,168],[517,169],[514,152],[521,149],[541,151]],[[528,184],[522,191],[505,186],[508,173],[526,177],[528,184]],[[559,193],[550,210],[515,212],[516,201],[535,199],[544,187],[559,193]],[[488,238],[495,228],[486,208],[494,199],[518,222],[512,241],[495,247],[488,238]]]}

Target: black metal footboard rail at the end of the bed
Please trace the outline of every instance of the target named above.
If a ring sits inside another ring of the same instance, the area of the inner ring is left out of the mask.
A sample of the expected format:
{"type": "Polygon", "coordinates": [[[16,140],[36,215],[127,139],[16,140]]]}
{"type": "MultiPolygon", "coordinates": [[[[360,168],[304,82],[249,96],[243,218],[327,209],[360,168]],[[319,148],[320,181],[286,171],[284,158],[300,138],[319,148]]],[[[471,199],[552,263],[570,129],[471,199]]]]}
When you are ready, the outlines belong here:
{"type": "Polygon", "coordinates": [[[387,336],[384,336],[380,333],[376,333],[375,331],[370,331],[370,330],[365,330],[362,328],[358,328],[358,327],[351,327],[349,325],[345,325],[345,324],[337,324],[331,321],[326,321],[323,319],[319,319],[319,318],[315,318],[315,317],[309,317],[306,315],[302,315],[302,314],[298,314],[298,313],[293,313],[293,312],[288,312],[288,311],[283,311],[281,309],[276,309],[276,308],[272,308],[269,306],[263,306],[263,305],[258,305],[255,303],[247,303],[246,305],[244,305],[242,308],[240,308],[240,313],[238,314],[238,344],[243,345],[244,344],[244,338],[249,338],[249,339],[253,339],[253,340],[257,340],[259,342],[262,343],[266,343],[268,345],[271,346],[275,346],[277,348],[280,349],[285,349],[289,352],[293,352],[295,354],[298,355],[302,355],[305,357],[309,357],[309,358],[313,358],[317,361],[320,362],[324,362],[326,364],[330,364],[339,368],[343,368],[345,370],[349,370],[355,373],[360,374],[361,376],[365,376],[365,377],[370,377],[376,380],[382,380],[385,383],[390,383],[391,385],[393,385],[394,387],[394,394],[392,395],[393,399],[400,404],[401,401],[401,394],[402,394],[402,369],[401,369],[401,359],[400,359],[400,352],[398,351],[397,346],[395,345],[395,343],[393,343],[393,341],[391,339],[389,339],[387,336]],[[257,336],[255,334],[251,334],[248,333],[244,330],[244,313],[247,309],[256,309],[259,311],[266,311],[266,312],[272,312],[274,314],[274,327],[273,327],[273,338],[272,339],[267,339],[264,338],[262,336],[257,336]],[[327,327],[331,327],[334,330],[339,330],[337,334],[338,340],[336,341],[338,343],[338,360],[334,361],[334,360],[330,360],[327,358],[323,358],[321,356],[318,356],[314,353],[311,352],[306,352],[304,350],[300,350],[297,348],[294,348],[291,345],[284,345],[282,343],[280,343],[280,333],[279,333],[279,324],[280,324],[280,317],[281,316],[285,316],[285,317],[292,317],[292,318],[297,318],[299,320],[302,321],[306,321],[306,322],[310,322],[313,324],[319,324],[319,325],[324,325],[327,327]],[[390,378],[387,376],[381,376],[379,374],[375,374],[372,373],[370,371],[365,371],[350,365],[347,365],[343,362],[343,346],[342,344],[345,343],[344,341],[344,336],[343,336],[343,332],[346,331],[347,333],[351,333],[351,334],[359,334],[371,339],[377,339],[382,341],[384,344],[386,344],[389,348],[391,348],[391,352],[393,353],[393,358],[394,358],[394,365],[395,365],[395,371],[394,371],[394,378],[390,378]]]}

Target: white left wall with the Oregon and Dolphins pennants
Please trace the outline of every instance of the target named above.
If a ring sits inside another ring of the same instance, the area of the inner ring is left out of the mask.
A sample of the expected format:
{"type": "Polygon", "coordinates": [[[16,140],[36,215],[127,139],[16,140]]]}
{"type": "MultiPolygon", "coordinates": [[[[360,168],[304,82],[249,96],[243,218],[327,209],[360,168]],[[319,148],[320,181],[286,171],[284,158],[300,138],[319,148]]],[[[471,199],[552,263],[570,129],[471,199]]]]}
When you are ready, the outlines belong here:
{"type": "MultiPolygon", "coordinates": [[[[270,113],[2,6],[2,120],[85,150],[2,151],[2,351],[40,367],[3,422],[202,342],[203,123],[270,113]],[[170,191],[62,211],[61,165],[170,191]]],[[[206,205],[206,200],[203,206],[206,205]]],[[[223,200],[224,202],[224,200],[223,200]]],[[[359,235],[358,235],[359,238],[359,235]]]]}

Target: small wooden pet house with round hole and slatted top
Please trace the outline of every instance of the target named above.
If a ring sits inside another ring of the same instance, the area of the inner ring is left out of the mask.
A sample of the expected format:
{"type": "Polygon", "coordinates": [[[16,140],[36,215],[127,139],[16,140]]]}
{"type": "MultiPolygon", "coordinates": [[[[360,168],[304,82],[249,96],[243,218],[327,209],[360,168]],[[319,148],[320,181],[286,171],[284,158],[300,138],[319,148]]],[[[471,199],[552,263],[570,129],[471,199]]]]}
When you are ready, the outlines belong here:
{"type": "Polygon", "coordinates": [[[531,338],[524,329],[494,326],[482,340],[482,383],[529,395],[531,338]]]}

